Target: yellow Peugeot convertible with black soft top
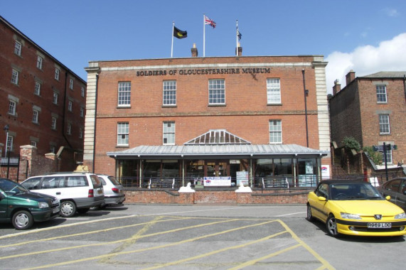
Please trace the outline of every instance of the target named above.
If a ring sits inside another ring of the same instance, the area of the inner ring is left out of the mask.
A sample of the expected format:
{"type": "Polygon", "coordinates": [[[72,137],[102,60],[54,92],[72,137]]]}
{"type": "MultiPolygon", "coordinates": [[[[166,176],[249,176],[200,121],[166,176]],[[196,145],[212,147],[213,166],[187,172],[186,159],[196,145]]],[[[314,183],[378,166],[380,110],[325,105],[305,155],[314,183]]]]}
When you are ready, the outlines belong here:
{"type": "Polygon", "coordinates": [[[388,200],[367,182],[324,180],[307,197],[307,220],[326,223],[332,237],[404,235],[406,214],[388,200]]]}

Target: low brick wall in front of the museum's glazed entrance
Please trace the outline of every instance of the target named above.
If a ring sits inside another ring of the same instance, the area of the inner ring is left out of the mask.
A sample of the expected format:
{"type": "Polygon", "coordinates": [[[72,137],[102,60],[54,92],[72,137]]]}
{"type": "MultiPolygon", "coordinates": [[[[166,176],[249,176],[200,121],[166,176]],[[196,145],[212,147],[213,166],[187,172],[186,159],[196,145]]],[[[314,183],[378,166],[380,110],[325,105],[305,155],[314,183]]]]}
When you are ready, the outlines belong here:
{"type": "Polygon", "coordinates": [[[196,190],[195,193],[178,193],[177,190],[137,189],[124,190],[125,203],[139,204],[289,204],[306,203],[309,190],[278,193],[277,190],[252,190],[252,193],[235,193],[235,190],[196,190]]]}

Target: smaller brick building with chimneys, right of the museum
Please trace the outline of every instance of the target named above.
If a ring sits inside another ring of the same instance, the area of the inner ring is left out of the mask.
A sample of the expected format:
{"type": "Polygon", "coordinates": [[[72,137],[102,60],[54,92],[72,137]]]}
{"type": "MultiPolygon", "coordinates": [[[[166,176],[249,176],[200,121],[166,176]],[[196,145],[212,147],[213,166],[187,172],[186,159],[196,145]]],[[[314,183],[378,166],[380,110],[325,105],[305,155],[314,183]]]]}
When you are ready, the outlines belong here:
{"type": "MultiPolygon", "coordinates": [[[[376,72],[356,77],[346,75],[346,87],[336,82],[329,99],[331,140],[338,146],[345,136],[353,136],[361,147],[390,144],[389,168],[397,168],[406,158],[406,72],[376,72]]],[[[383,169],[385,166],[377,166],[383,169]]]]}

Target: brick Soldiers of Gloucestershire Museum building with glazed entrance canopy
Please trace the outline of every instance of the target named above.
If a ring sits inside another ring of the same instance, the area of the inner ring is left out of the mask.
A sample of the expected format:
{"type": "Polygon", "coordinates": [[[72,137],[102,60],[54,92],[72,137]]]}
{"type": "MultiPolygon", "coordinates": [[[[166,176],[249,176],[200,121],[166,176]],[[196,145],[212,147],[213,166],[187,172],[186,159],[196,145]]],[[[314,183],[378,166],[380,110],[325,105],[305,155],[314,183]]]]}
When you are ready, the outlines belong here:
{"type": "Polygon", "coordinates": [[[84,163],[139,188],[314,185],[331,165],[326,64],[198,58],[196,48],[191,58],[90,61],[84,163]]]}

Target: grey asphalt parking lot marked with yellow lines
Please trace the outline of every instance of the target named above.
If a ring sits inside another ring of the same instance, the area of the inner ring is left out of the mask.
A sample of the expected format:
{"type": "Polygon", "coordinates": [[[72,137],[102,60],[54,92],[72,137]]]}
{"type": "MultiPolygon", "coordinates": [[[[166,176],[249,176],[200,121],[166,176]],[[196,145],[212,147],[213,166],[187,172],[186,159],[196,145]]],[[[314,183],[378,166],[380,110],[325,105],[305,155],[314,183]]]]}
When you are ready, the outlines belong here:
{"type": "Polygon", "coordinates": [[[404,237],[335,239],[305,217],[304,205],[124,205],[0,224],[0,269],[404,268],[404,237]]]}

